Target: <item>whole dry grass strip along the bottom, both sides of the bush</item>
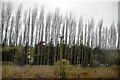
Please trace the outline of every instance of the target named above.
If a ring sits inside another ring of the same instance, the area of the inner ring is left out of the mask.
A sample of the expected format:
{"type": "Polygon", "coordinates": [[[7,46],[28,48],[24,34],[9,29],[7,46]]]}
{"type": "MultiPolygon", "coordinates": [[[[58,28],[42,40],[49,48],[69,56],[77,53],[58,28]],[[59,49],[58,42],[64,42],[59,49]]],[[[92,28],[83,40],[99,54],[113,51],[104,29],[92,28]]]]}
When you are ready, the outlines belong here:
{"type": "MultiPolygon", "coordinates": [[[[49,65],[3,65],[3,78],[58,78],[59,70],[49,65]]],[[[80,67],[69,65],[65,69],[67,78],[117,78],[117,66],[109,67],[80,67]]]]}

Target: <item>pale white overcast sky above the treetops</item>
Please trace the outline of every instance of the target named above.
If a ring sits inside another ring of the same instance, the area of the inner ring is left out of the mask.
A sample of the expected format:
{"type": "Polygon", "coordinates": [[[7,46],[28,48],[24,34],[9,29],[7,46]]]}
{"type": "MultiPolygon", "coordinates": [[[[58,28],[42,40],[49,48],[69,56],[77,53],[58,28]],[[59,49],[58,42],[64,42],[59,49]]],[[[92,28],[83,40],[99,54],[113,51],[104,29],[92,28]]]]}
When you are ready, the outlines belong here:
{"type": "MultiPolygon", "coordinates": [[[[66,13],[71,13],[78,21],[79,17],[89,20],[94,18],[95,24],[98,24],[100,19],[103,19],[104,25],[109,26],[112,22],[118,21],[118,1],[119,0],[9,0],[14,2],[14,8],[17,9],[19,3],[23,3],[24,7],[29,6],[44,6],[45,12],[55,11],[59,7],[60,12],[65,16],[66,13]]],[[[8,2],[8,0],[1,0],[8,2]]],[[[1,6],[1,3],[0,3],[1,6]]]]}

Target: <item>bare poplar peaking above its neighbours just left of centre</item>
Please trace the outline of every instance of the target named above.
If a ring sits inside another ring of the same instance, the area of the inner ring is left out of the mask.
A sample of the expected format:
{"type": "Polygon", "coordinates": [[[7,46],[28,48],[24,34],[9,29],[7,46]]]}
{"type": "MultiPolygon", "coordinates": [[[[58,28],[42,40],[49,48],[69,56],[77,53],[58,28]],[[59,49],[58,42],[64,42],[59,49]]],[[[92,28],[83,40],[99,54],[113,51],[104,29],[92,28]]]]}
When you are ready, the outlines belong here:
{"type": "Polygon", "coordinates": [[[57,48],[57,45],[58,45],[58,38],[60,36],[60,28],[61,28],[61,22],[62,22],[62,18],[60,16],[60,11],[59,11],[59,8],[56,8],[55,10],[55,14],[53,16],[53,23],[52,23],[52,30],[53,30],[53,42],[54,42],[54,45],[55,45],[55,55],[54,55],[54,61],[57,61],[57,52],[58,52],[58,48],[57,48]]]}

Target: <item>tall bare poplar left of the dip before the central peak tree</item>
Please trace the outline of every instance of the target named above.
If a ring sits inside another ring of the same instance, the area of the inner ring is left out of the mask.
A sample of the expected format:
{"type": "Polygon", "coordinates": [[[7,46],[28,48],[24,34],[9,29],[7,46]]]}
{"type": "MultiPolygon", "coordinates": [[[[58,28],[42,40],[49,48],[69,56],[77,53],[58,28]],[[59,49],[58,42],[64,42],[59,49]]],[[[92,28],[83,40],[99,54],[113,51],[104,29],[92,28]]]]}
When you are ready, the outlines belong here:
{"type": "Polygon", "coordinates": [[[38,21],[36,22],[36,27],[38,29],[38,32],[36,32],[36,33],[38,33],[37,64],[42,64],[42,62],[44,61],[44,60],[42,60],[43,51],[44,51],[44,48],[43,48],[44,8],[43,8],[43,6],[41,6],[40,15],[39,15],[38,21]]]}

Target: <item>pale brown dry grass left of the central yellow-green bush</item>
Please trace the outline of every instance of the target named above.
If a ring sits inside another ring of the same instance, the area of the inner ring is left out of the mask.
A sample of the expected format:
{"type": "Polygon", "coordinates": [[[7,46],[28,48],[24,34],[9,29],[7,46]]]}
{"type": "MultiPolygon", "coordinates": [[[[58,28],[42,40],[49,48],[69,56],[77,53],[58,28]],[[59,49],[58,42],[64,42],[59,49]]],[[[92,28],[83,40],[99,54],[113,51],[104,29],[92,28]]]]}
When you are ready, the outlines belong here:
{"type": "Polygon", "coordinates": [[[2,77],[3,78],[34,78],[34,77],[55,77],[54,67],[45,66],[45,65],[25,65],[25,66],[16,66],[16,65],[3,65],[2,68],[2,77]]]}

